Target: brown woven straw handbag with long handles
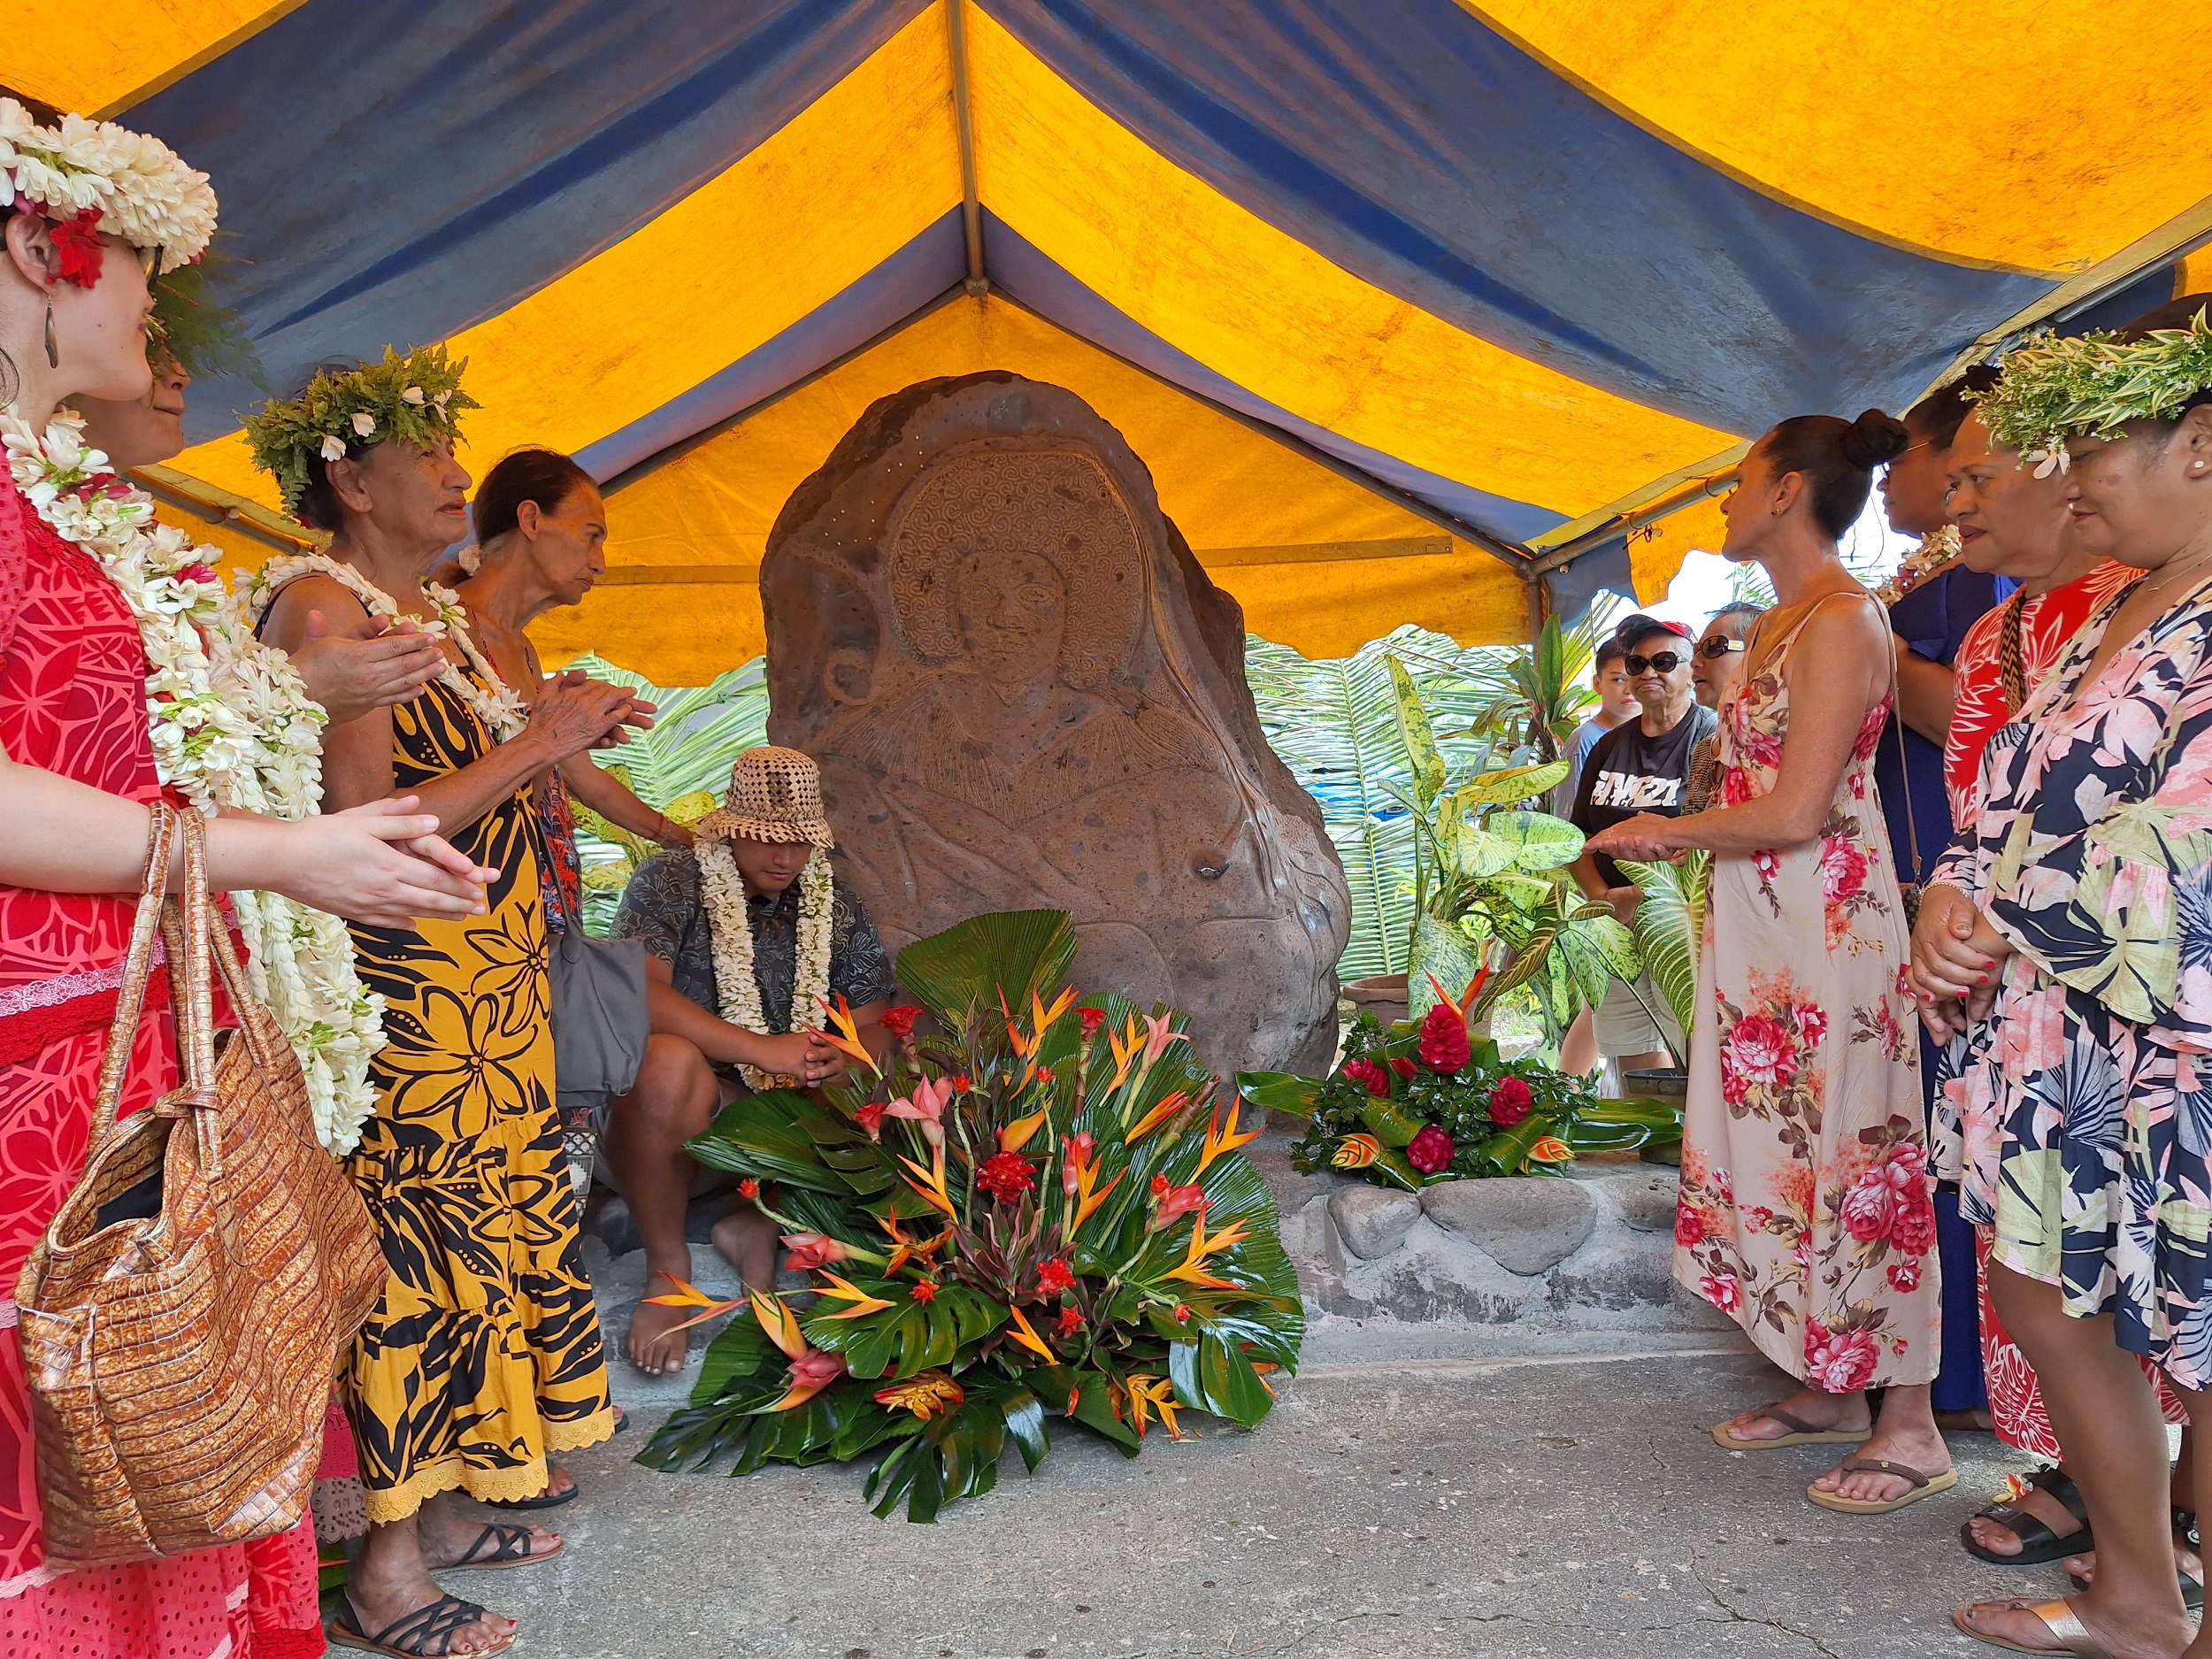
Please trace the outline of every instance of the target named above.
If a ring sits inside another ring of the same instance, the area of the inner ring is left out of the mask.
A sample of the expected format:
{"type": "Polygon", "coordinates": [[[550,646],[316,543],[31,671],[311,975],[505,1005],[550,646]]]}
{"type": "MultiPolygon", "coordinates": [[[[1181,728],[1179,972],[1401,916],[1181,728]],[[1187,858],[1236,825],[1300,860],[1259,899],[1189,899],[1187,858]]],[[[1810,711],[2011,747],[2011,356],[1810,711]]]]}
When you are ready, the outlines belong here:
{"type": "Polygon", "coordinates": [[[299,1060],[208,898],[199,814],[153,821],[91,1155],[15,1285],[53,1566],[299,1524],[338,1347],[385,1285],[361,1194],[316,1146],[299,1060]],[[184,894],[164,900],[179,834],[184,894]],[[117,1121],[157,929],[181,1086],[117,1121]],[[210,958],[237,1031],[215,1031],[210,958]]]}

